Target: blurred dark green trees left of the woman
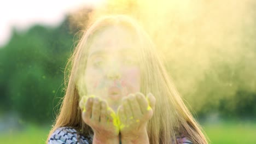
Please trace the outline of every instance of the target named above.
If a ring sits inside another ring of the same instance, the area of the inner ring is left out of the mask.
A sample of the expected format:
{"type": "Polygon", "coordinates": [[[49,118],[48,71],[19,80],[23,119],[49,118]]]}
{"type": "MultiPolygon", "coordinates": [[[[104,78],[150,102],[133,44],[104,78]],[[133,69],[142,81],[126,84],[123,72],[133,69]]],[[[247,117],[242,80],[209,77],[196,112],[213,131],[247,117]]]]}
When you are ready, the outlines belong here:
{"type": "Polygon", "coordinates": [[[9,43],[0,49],[1,110],[17,111],[33,122],[50,122],[64,94],[63,70],[72,40],[68,21],[55,28],[13,29],[9,43]]]}

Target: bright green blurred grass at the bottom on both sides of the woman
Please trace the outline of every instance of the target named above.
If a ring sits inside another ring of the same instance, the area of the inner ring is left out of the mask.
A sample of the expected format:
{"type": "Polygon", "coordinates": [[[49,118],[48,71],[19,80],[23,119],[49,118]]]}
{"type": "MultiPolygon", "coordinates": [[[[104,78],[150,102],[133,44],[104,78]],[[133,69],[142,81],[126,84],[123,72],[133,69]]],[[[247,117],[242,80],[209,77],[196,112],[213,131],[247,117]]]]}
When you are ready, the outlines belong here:
{"type": "MultiPolygon", "coordinates": [[[[203,124],[211,143],[256,143],[256,123],[225,122],[203,124]]],[[[45,143],[49,128],[30,125],[25,131],[1,133],[1,143],[45,143]]]]}

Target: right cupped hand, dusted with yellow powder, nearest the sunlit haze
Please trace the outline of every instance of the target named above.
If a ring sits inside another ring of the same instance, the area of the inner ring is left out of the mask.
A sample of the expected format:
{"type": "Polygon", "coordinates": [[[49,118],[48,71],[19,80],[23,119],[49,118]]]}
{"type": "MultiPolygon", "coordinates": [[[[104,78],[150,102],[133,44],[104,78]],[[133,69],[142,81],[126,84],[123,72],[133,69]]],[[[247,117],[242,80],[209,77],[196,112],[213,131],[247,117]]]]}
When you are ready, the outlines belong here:
{"type": "Polygon", "coordinates": [[[155,98],[149,93],[130,94],[118,109],[122,143],[149,143],[147,122],[153,116],[155,98]]]}

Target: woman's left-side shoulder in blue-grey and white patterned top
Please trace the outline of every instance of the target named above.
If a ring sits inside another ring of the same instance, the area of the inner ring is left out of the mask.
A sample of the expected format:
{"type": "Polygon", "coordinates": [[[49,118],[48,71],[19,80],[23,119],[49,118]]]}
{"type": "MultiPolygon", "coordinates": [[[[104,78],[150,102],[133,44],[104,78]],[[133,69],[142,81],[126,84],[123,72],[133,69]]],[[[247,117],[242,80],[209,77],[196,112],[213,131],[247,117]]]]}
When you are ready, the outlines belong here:
{"type": "Polygon", "coordinates": [[[51,134],[48,144],[73,144],[78,142],[89,144],[89,139],[91,139],[91,137],[77,135],[77,130],[74,128],[60,127],[51,134]]]}

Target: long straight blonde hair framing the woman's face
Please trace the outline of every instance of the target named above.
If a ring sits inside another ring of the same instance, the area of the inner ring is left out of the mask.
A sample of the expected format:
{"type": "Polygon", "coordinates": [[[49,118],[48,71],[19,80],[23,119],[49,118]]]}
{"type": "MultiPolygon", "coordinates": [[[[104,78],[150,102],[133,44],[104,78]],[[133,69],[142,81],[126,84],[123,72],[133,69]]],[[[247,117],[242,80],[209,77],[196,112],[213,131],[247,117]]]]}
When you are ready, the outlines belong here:
{"type": "MultiPolygon", "coordinates": [[[[83,122],[82,111],[79,109],[79,95],[86,94],[81,87],[81,74],[86,69],[88,49],[94,35],[102,28],[118,25],[129,28],[135,32],[139,47],[139,67],[141,69],[141,92],[153,93],[156,99],[154,115],[148,122],[148,136],[150,143],[178,143],[178,137],[186,136],[193,143],[208,143],[197,124],[173,85],[160,57],[156,55],[152,41],[148,35],[130,17],[124,15],[104,16],[92,23],[79,41],[72,57],[68,61],[65,74],[68,80],[65,97],[61,105],[61,111],[51,129],[48,140],[53,132],[59,127],[72,127],[81,135],[93,134],[92,129],[83,122]]],[[[48,142],[46,141],[46,143],[48,142]]]]}

